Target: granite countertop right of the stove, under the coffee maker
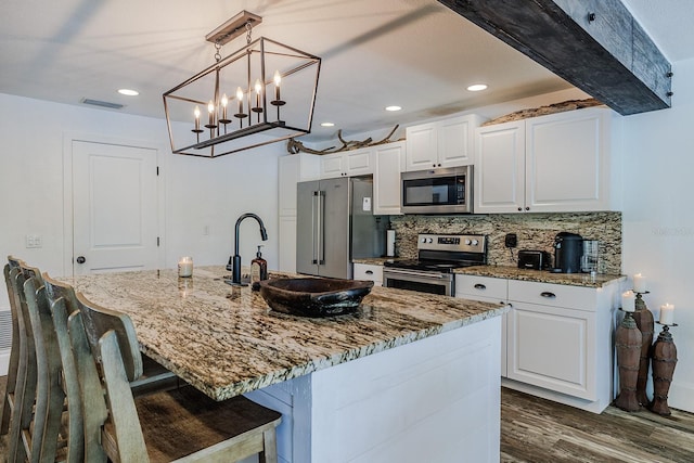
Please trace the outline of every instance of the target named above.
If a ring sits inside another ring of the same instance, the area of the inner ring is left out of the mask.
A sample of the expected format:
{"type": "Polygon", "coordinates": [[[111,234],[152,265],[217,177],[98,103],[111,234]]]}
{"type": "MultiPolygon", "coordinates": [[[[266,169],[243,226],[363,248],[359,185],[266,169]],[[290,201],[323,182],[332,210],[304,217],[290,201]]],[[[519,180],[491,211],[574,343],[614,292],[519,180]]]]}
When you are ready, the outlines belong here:
{"type": "Polygon", "coordinates": [[[491,276],[509,280],[534,281],[539,283],[565,284],[570,286],[603,287],[608,284],[625,281],[626,275],[588,273],[552,273],[547,270],[528,270],[504,266],[473,266],[454,270],[455,273],[491,276]]]}

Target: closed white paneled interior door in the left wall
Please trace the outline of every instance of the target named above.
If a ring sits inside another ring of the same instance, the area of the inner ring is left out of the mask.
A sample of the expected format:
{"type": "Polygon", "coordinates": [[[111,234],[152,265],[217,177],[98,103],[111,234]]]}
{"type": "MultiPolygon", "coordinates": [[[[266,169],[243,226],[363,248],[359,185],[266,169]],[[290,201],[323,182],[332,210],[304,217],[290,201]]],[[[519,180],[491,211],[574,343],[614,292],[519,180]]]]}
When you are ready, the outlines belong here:
{"type": "Polygon", "coordinates": [[[156,267],[156,150],[73,141],[73,273],[156,267]]]}

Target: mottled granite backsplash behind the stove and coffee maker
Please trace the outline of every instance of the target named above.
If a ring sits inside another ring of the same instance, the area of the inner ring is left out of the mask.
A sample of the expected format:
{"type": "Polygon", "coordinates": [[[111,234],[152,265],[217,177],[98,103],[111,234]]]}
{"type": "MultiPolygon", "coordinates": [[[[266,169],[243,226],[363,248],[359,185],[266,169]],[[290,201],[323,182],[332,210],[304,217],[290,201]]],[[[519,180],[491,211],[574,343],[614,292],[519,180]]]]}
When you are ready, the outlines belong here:
{"type": "Polygon", "coordinates": [[[600,273],[621,273],[621,213],[413,215],[391,216],[390,223],[396,231],[396,255],[403,258],[416,257],[419,233],[484,234],[487,262],[515,266],[518,249],[547,250],[554,258],[554,236],[566,231],[600,241],[600,273]],[[518,245],[512,252],[504,246],[506,233],[518,236],[518,245]]]}

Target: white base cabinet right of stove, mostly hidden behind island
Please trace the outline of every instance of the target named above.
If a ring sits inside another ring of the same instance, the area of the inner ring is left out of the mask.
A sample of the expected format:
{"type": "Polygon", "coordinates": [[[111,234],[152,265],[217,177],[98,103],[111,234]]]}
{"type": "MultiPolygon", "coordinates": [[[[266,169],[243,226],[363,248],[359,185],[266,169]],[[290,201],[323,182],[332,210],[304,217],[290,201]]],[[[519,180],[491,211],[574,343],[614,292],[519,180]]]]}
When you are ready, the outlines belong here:
{"type": "MultiPolygon", "coordinates": [[[[483,303],[509,304],[509,280],[477,275],[455,275],[455,297],[483,303]]],[[[506,336],[509,313],[501,316],[501,377],[506,377],[506,336]]]]}

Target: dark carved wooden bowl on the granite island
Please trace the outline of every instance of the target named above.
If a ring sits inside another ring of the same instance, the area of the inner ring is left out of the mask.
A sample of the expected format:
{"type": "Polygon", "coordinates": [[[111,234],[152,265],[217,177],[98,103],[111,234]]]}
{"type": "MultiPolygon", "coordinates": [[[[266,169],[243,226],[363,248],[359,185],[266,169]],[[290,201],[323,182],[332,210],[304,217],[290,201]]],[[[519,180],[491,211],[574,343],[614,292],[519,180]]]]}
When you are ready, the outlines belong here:
{"type": "Polygon", "coordinates": [[[278,312],[333,317],[356,311],[372,287],[372,281],[362,280],[272,279],[260,282],[260,295],[278,312]]]}

